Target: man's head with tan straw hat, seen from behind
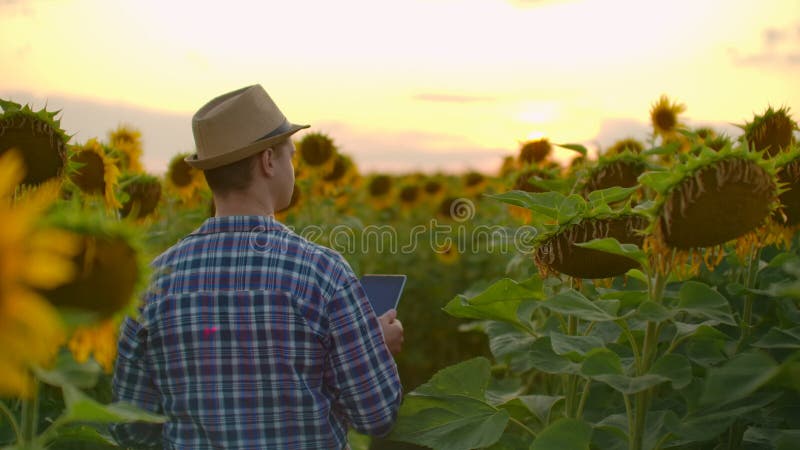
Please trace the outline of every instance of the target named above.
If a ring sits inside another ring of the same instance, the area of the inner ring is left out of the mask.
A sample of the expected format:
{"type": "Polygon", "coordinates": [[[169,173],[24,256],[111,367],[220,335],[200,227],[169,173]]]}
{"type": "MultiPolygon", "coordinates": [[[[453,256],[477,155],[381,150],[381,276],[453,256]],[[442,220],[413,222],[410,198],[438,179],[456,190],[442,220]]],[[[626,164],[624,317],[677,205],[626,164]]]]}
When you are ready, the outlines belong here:
{"type": "Polygon", "coordinates": [[[195,113],[197,154],[186,162],[204,171],[215,197],[269,189],[278,210],[288,205],[294,186],[291,136],[303,128],[308,125],[286,119],[264,88],[248,86],[211,100],[195,113]]]}

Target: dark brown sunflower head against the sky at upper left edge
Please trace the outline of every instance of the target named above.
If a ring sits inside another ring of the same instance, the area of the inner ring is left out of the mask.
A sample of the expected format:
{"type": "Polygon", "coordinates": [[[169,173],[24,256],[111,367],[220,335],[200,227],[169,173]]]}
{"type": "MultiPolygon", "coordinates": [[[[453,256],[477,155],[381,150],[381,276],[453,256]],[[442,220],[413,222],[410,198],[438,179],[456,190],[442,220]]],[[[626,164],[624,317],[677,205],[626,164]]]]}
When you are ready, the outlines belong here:
{"type": "Polygon", "coordinates": [[[0,99],[0,154],[15,148],[23,157],[24,185],[61,177],[67,163],[69,137],[61,129],[58,111],[33,111],[30,106],[0,99]]]}

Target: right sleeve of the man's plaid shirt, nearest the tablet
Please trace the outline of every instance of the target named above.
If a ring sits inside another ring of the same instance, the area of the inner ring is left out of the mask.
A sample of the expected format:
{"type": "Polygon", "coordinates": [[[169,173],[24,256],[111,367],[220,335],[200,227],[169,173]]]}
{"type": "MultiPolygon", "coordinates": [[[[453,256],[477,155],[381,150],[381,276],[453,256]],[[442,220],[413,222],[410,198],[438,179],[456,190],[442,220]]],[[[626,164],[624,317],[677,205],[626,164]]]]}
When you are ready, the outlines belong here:
{"type": "Polygon", "coordinates": [[[331,348],[325,379],[334,410],[358,432],[385,436],[397,420],[402,386],[361,283],[352,278],[326,310],[331,348]]]}

